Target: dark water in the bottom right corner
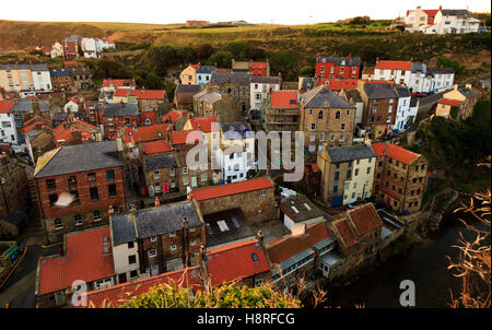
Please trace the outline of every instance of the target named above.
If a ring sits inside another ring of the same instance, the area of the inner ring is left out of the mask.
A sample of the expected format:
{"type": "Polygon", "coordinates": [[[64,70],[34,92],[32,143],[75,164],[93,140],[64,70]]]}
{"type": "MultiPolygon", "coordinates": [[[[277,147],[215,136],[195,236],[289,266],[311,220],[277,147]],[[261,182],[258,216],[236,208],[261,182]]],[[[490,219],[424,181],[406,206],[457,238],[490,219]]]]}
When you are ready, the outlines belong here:
{"type": "MultiPolygon", "coordinates": [[[[456,258],[459,250],[457,244],[459,232],[465,237],[473,237],[458,217],[464,214],[447,213],[442,227],[435,237],[421,245],[387,259],[380,266],[362,274],[348,286],[328,292],[328,306],[354,307],[355,304],[366,308],[401,307],[399,288],[403,280],[412,280],[415,284],[415,307],[445,308],[450,302],[450,291],[456,294],[460,288],[460,279],[447,270],[449,261],[446,256],[456,258]]],[[[478,227],[484,229],[481,223],[478,227]]],[[[455,259],[456,260],[456,259],[455,259]]]]}

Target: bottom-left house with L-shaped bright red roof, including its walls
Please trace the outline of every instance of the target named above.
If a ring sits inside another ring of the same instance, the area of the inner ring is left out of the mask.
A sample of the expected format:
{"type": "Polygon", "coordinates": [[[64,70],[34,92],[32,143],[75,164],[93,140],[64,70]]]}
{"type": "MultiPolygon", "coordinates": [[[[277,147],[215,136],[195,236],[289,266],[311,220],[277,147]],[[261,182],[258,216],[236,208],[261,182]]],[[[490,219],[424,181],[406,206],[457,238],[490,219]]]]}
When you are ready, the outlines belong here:
{"type": "Polygon", "coordinates": [[[70,304],[72,283],[84,281],[86,290],[115,284],[113,249],[108,226],[65,235],[60,256],[39,257],[35,296],[40,308],[70,304]]]}

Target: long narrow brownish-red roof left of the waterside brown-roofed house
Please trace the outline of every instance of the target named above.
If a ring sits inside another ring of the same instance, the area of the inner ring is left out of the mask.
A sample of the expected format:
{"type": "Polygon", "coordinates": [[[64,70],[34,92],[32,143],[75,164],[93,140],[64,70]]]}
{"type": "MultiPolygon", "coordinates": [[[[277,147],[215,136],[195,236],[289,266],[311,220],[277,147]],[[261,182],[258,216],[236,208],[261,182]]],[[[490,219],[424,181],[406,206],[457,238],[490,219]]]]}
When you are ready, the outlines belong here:
{"type": "Polygon", "coordinates": [[[267,247],[267,254],[272,263],[280,264],[289,258],[298,255],[307,248],[313,247],[318,241],[330,237],[331,234],[325,223],[318,222],[306,227],[304,235],[289,235],[267,247]]]}

